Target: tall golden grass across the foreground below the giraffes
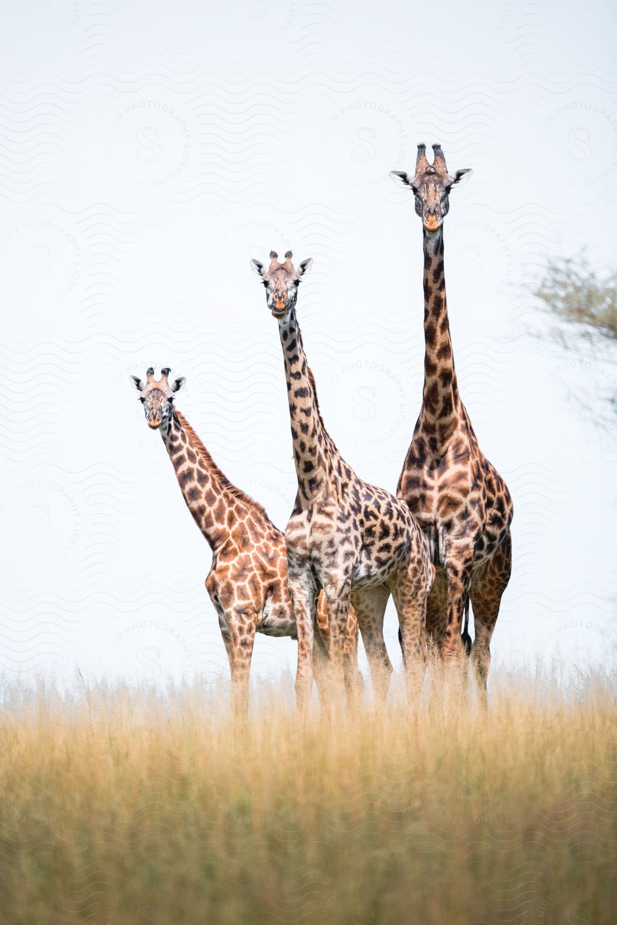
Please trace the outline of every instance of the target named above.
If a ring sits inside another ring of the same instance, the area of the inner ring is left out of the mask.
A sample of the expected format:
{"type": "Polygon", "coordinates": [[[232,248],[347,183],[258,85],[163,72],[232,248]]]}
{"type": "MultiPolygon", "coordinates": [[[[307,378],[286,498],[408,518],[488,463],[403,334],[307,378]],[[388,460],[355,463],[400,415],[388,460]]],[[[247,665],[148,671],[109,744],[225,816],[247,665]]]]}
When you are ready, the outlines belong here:
{"type": "Polygon", "coordinates": [[[0,922],[614,922],[614,678],[494,672],[485,714],[431,677],[302,728],[286,679],[245,728],[199,685],[7,688],[0,922]]]}

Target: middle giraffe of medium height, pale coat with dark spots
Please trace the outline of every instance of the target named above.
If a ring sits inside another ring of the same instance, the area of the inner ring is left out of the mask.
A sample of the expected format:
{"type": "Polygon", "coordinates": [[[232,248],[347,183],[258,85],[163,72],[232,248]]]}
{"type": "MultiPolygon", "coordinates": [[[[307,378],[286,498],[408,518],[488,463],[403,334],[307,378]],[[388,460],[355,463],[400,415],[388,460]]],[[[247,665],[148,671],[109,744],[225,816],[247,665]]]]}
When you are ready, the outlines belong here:
{"type": "Polygon", "coordinates": [[[267,269],[258,260],[251,265],[265,286],[267,307],[278,319],[298,478],[285,530],[287,584],[298,627],[297,705],[302,711],[310,689],[315,607],[323,590],[330,632],[328,683],[335,690],[340,686],[351,600],[376,704],[382,707],[392,672],[383,637],[389,595],[398,611],[407,689],[413,696],[424,675],[420,656],[426,654],[426,597],[434,569],[426,538],[404,501],[358,478],[327,433],[296,318],[298,287],[313,261],[304,260],[296,269],[291,257],[288,251],[280,264],[278,254],[271,251],[267,269]]]}

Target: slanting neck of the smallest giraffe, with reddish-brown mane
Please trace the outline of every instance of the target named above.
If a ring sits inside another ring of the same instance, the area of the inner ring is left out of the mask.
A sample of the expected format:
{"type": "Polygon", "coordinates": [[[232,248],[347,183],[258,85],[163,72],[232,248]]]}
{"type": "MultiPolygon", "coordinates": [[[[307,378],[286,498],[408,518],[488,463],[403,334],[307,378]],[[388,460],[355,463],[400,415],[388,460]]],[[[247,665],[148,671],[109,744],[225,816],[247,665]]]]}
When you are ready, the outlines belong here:
{"type": "Polygon", "coordinates": [[[175,408],[167,418],[167,425],[161,427],[161,437],[186,505],[213,552],[225,546],[232,538],[231,527],[238,524],[239,516],[228,518],[230,509],[240,517],[243,510],[251,512],[260,522],[269,523],[264,508],[228,481],[189,422],[175,408]]]}

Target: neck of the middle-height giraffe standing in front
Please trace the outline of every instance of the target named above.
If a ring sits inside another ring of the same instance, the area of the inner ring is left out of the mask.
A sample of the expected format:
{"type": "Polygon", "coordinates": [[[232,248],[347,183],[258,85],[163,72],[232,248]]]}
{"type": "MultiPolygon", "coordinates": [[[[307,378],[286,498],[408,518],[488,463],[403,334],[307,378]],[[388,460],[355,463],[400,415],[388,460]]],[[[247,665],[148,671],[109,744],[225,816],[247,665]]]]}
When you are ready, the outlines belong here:
{"type": "Polygon", "coordinates": [[[302,506],[310,503],[326,487],[331,472],[331,456],[336,447],[327,434],[319,413],[315,379],[306,363],[302,333],[295,309],[278,323],[285,361],[285,378],[290,402],[293,459],[298,475],[298,498],[302,506]],[[329,464],[328,464],[329,463],[329,464]]]}

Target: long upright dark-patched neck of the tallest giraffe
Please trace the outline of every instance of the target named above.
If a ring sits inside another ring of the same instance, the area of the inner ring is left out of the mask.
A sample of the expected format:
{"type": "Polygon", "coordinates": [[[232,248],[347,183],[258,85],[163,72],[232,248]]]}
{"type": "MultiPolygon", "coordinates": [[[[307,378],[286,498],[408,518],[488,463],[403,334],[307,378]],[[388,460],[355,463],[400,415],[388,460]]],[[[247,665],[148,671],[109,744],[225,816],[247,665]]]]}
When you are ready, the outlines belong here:
{"type": "Polygon", "coordinates": [[[443,270],[443,228],[424,233],[425,384],[422,421],[430,449],[450,441],[459,420],[459,389],[450,339],[446,280],[443,270]]]}

